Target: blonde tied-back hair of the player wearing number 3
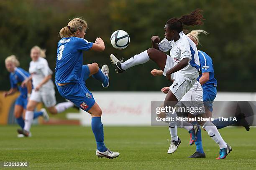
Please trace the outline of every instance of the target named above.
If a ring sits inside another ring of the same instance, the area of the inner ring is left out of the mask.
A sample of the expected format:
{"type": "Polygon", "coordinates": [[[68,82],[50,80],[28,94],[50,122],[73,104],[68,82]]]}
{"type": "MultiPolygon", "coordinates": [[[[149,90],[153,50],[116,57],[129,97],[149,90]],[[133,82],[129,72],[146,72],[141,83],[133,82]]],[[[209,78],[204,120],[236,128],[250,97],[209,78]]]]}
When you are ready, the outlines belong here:
{"type": "Polygon", "coordinates": [[[70,20],[66,27],[61,28],[59,37],[74,37],[75,32],[77,30],[81,31],[84,27],[85,29],[88,28],[87,23],[82,18],[74,18],[73,20],[70,20]]]}

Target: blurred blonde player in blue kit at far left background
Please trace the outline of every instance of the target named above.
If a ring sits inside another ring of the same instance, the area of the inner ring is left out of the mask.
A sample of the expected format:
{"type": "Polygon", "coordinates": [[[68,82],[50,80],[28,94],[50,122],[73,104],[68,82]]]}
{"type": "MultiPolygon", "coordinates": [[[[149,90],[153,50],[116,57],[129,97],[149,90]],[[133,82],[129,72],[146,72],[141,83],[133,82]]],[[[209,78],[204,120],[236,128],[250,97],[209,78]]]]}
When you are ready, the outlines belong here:
{"type": "MultiPolygon", "coordinates": [[[[23,114],[25,113],[28,98],[31,94],[32,84],[30,81],[28,82],[27,87],[20,86],[21,83],[29,77],[29,73],[18,67],[19,65],[20,63],[15,55],[11,55],[5,59],[5,67],[8,72],[10,72],[10,90],[8,92],[4,92],[3,95],[6,97],[17,91],[20,92],[19,97],[15,101],[14,116],[18,125],[23,129],[25,125],[23,114]]],[[[33,119],[36,119],[38,116],[44,116],[44,118],[48,117],[45,109],[41,109],[39,112],[34,112],[33,119]]],[[[18,134],[18,137],[24,137],[24,135],[18,134]]]]}

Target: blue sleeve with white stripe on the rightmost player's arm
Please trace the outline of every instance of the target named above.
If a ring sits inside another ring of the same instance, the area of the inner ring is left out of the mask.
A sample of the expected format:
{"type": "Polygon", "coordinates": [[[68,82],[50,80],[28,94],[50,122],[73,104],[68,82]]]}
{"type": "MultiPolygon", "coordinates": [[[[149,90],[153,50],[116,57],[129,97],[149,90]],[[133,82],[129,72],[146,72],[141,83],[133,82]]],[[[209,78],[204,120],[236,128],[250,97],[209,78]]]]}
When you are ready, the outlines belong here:
{"type": "Polygon", "coordinates": [[[205,52],[198,52],[202,72],[213,72],[212,60],[205,52]]]}

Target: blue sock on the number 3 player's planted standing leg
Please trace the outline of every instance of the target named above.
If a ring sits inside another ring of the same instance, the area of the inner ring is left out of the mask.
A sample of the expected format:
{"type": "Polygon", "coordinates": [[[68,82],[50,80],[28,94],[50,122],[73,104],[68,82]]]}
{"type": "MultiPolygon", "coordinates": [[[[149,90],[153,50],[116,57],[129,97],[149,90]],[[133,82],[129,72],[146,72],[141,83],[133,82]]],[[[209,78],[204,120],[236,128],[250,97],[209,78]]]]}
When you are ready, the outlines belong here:
{"type": "Polygon", "coordinates": [[[101,123],[101,117],[92,117],[92,132],[95,136],[97,149],[100,152],[105,152],[107,148],[104,144],[103,124],[101,123]]]}

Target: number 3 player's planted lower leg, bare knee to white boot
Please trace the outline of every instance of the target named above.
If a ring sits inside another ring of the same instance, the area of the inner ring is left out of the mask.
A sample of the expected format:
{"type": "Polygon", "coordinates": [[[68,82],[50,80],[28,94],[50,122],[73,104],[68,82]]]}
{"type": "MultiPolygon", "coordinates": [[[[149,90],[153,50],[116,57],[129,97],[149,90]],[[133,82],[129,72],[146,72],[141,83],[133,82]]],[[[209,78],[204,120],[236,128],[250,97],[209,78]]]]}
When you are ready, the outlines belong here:
{"type": "Polygon", "coordinates": [[[88,112],[92,115],[92,132],[95,136],[97,144],[96,156],[99,158],[105,157],[109,159],[118,157],[118,152],[112,152],[106,148],[104,144],[103,124],[101,122],[101,109],[99,105],[95,102],[95,104],[90,110],[88,110],[88,112]]]}

